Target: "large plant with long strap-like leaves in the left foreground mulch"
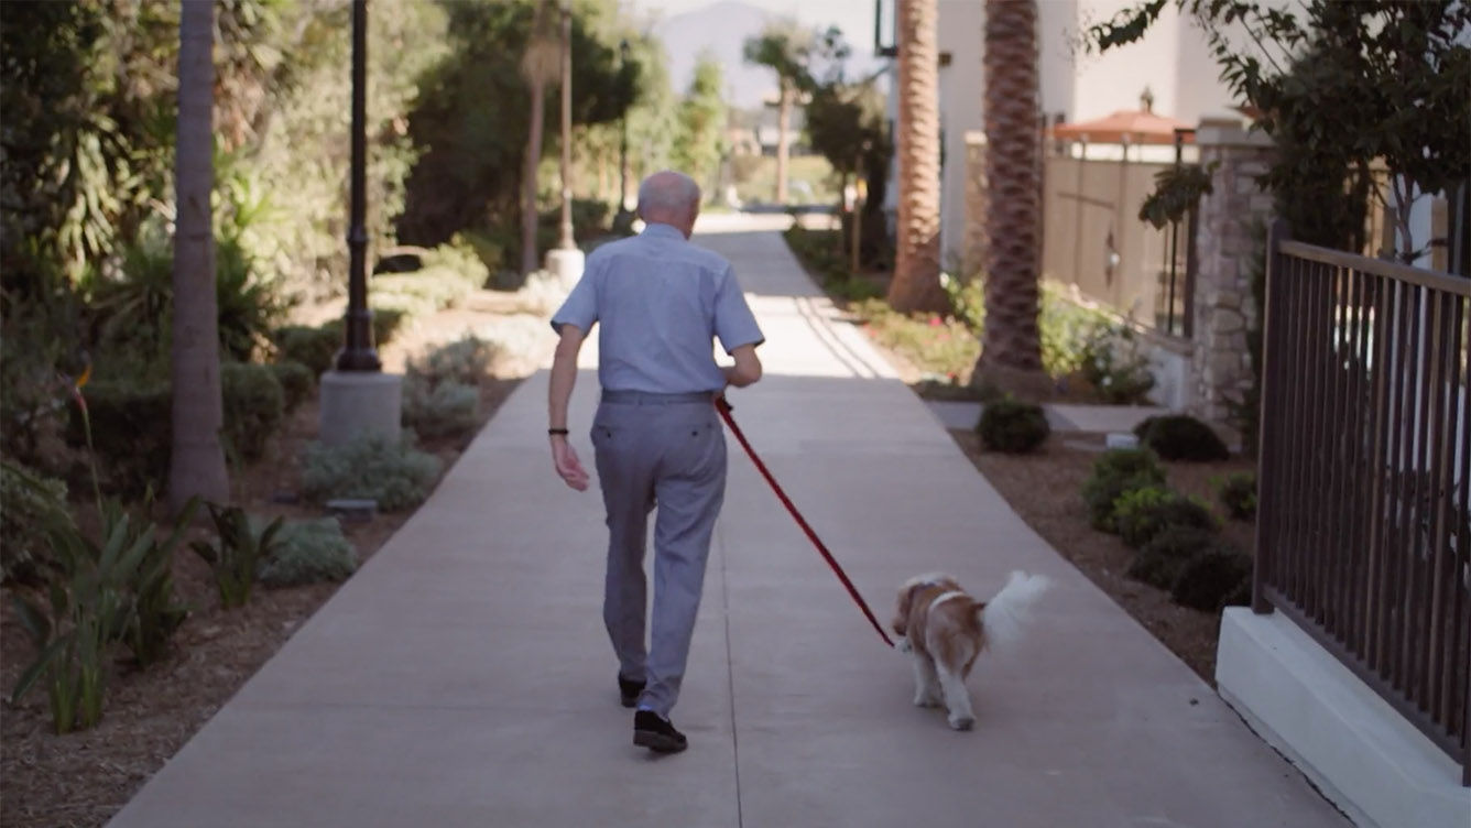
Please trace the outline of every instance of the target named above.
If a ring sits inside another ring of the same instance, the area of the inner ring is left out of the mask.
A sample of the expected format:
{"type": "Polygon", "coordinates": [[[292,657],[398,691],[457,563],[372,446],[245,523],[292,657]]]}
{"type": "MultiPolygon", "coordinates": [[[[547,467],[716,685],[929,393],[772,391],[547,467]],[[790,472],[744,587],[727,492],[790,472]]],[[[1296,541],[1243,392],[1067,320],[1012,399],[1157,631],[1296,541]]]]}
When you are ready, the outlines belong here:
{"type": "Polygon", "coordinates": [[[65,734],[101,718],[107,644],[132,624],[128,584],[154,544],[152,534],[134,537],[121,509],[106,510],[100,547],[62,527],[50,541],[57,572],[44,600],[35,594],[15,599],[37,657],[16,681],[12,702],[44,681],[51,722],[65,734]]]}

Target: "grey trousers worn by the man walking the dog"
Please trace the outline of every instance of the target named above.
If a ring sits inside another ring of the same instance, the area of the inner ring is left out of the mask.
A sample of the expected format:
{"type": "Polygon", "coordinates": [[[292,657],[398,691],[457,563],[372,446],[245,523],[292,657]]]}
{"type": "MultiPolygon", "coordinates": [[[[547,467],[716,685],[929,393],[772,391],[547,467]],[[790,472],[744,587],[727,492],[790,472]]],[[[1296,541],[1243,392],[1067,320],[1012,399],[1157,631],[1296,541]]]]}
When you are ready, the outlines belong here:
{"type": "Polygon", "coordinates": [[[725,434],[709,396],[606,393],[593,418],[608,510],[603,622],[618,672],[644,679],[638,700],[668,718],[680,697],[710,534],[725,499],[725,434]],[[644,646],[644,550],[653,531],[653,619],[644,646]]]}

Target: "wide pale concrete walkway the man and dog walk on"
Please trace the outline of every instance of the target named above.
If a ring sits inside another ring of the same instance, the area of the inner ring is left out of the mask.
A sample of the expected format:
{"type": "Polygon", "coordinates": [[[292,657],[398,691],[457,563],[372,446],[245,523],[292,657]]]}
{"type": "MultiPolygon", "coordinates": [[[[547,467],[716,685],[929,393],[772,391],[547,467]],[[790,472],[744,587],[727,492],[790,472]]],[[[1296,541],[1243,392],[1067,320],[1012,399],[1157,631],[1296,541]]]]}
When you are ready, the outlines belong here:
{"type": "MultiPolygon", "coordinates": [[[[978,593],[1015,568],[1055,579],[1027,647],[978,662],[972,732],[911,706],[906,657],[731,440],[674,710],[690,750],[634,747],[600,621],[600,500],[552,472],[540,374],[112,825],[1346,825],[1006,507],[780,235],[743,222],[697,238],[736,262],[768,335],[736,418],[875,612],[934,569],[978,593]]],[[[584,372],[588,460],[596,393],[584,372]]]]}

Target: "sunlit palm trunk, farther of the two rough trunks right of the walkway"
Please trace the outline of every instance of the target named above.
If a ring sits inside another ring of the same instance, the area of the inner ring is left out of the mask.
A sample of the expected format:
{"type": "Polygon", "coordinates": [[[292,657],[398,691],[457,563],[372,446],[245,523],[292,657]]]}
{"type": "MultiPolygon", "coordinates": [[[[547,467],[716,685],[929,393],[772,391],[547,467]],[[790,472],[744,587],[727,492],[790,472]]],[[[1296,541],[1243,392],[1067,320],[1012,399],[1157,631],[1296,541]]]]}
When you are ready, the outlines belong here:
{"type": "Polygon", "coordinates": [[[944,310],[940,287],[940,44],[936,0],[899,1],[899,222],[888,303],[944,310]]]}

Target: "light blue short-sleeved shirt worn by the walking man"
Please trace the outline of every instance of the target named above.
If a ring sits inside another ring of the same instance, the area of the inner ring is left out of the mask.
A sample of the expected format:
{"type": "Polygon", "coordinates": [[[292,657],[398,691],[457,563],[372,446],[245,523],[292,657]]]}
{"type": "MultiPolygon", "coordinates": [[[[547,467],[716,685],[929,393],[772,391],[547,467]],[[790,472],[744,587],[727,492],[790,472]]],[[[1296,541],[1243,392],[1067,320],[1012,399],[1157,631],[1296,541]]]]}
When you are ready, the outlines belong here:
{"type": "Polygon", "coordinates": [[[725,353],[765,341],[730,262],[665,224],[587,257],[552,316],[556,331],[568,324],[584,332],[602,324],[597,379],[615,391],[719,391],[725,375],[713,341],[725,353]]]}

